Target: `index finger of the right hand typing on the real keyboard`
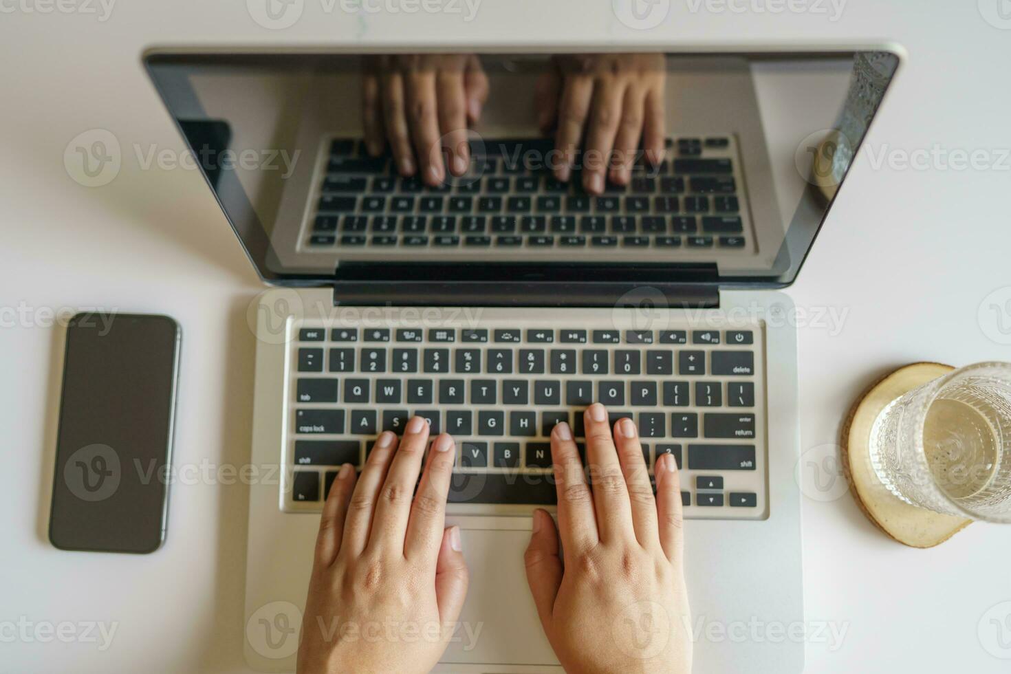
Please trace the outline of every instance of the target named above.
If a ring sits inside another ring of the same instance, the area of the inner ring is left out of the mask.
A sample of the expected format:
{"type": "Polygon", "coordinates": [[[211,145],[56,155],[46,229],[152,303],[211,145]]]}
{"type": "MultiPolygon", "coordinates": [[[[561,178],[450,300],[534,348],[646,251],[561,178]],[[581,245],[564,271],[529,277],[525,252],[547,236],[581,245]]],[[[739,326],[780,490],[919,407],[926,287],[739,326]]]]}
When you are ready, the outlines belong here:
{"type": "Polygon", "coordinates": [[[568,423],[558,423],[551,430],[551,463],[558,492],[558,526],[565,554],[589,550],[600,541],[593,498],[568,423]]]}

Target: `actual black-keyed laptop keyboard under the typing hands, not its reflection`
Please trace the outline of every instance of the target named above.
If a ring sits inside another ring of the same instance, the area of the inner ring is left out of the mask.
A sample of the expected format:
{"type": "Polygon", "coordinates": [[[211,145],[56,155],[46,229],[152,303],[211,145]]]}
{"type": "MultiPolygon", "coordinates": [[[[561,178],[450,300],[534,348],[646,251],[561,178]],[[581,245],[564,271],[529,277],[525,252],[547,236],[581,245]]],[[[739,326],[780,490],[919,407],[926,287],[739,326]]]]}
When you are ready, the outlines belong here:
{"type": "Polygon", "coordinates": [[[458,511],[553,504],[551,429],[571,424],[585,457],[582,412],[602,402],[612,423],[623,416],[636,421],[651,475],[656,457],[674,455],[686,516],[764,516],[760,325],[594,329],[548,327],[562,324],[551,319],[533,327],[519,322],[296,325],[289,350],[288,509],[317,510],[340,465],[360,469],[376,436],[399,434],[413,414],[429,419],[433,436],[447,431],[456,440],[450,501],[458,511]]]}

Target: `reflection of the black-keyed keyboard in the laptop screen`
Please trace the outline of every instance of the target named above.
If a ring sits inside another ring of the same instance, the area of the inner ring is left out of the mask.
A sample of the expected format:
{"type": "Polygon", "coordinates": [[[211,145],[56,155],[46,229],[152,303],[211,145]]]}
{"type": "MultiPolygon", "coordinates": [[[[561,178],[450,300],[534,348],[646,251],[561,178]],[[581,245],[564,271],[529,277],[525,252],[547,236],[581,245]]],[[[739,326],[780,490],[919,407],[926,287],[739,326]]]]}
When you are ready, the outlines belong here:
{"type": "MultiPolygon", "coordinates": [[[[636,164],[628,185],[582,191],[579,174],[555,180],[545,163],[554,143],[513,138],[472,143],[471,170],[433,188],[396,174],[389,157],[335,138],[319,158],[304,249],[343,254],[402,248],[472,256],[482,250],[607,253],[750,248],[734,138],[668,140],[658,167],[636,164]]],[[[578,159],[577,159],[578,165],[578,159]]]]}

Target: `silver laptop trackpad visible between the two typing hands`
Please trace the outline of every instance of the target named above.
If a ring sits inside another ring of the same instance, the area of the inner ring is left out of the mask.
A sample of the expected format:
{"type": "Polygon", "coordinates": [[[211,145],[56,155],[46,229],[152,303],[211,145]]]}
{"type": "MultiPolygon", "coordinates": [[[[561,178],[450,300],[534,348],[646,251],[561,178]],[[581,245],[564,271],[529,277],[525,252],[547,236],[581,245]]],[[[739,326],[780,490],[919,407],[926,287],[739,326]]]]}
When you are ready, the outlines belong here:
{"type": "Polygon", "coordinates": [[[557,665],[527,587],[523,553],[530,532],[464,528],[460,534],[470,587],[442,662],[557,665]]]}

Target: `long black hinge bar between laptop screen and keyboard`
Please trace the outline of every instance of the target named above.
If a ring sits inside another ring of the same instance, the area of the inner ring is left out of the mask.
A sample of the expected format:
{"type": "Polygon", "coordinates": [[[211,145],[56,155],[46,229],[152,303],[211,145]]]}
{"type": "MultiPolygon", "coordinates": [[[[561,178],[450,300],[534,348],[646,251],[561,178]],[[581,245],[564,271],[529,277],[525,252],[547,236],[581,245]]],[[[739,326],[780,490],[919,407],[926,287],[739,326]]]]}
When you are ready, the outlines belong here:
{"type": "Polygon", "coordinates": [[[390,306],[685,307],[720,305],[715,270],[660,266],[510,265],[399,266],[376,278],[375,269],[342,267],[334,303],[390,306]]]}

